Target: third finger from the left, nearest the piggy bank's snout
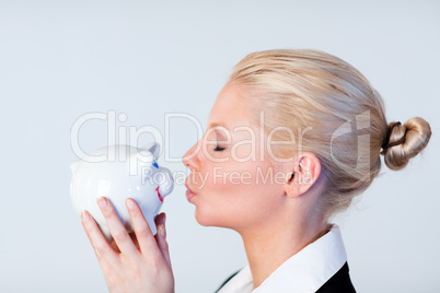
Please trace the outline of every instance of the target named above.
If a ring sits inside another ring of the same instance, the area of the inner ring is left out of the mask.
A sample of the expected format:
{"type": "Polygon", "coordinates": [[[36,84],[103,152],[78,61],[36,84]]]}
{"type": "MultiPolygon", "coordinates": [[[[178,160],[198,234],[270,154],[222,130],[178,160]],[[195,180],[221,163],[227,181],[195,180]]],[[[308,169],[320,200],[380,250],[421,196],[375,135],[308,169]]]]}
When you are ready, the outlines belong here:
{"type": "Polygon", "coordinates": [[[135,230],[136,238],[138,238],[139,248],[143,256],[159,255],[158,244],[151,233],[151,228],[143,216],[141,209],[134,199],[126,200],[127,209],[131,218],[132,227],[135,230]]]}

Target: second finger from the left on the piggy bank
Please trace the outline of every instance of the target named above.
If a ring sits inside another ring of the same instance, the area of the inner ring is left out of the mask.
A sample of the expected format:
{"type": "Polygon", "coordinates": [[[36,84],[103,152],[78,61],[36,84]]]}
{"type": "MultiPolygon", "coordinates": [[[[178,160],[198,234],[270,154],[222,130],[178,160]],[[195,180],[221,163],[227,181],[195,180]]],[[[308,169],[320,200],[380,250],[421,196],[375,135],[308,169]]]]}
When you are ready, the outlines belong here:
{"type": "Polygon", "coordinates": [[[113,239],[119,247],[119,250],[124,255],[137,257],[139,251],[132,243],[130,235],[128,235],[127,230],[120,222],[112,202],[107,198],[102,197],[97,199],[97,204],[101,208],[105,222],[107,222],[113,239]]]}

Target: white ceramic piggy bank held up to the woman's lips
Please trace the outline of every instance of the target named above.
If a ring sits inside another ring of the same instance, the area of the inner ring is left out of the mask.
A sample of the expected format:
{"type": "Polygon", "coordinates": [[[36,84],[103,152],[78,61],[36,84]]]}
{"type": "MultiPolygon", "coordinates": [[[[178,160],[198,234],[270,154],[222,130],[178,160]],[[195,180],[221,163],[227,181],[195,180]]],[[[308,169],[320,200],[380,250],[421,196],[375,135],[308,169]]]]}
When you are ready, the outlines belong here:
{"type": "Polygon", "coordinates": [[[173,176],[167,168],[160,167],[157,159],[160,145],[155,142],[143,148],[109,145],[99,149],[82,161],[71,164],[72,180],[70,199],[78,214],[88,210],[99,224],[104,236],[112,235],[96,199],[106,197],[115,207],[120,221],[130,233],[134,231],[125,200],[137,201],[157,234],[154,218],[165,196],[174,187],[173,176]]]}

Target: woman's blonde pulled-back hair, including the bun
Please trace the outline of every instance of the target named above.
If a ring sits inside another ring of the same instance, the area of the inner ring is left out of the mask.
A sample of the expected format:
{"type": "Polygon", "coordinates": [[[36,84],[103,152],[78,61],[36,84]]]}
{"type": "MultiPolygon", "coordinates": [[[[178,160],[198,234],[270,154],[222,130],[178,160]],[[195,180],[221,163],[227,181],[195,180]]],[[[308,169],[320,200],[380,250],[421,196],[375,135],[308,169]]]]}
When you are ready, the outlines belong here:
{"type": "Polygon", "coordinates": [[[230,82],[251,93],[255,124],[264,112],[266,136],[280,126],[297,138],[303,134],[299,145],[288,131],[273,132],[274,140],[291,142],[277,146],[274,153],[291,157],[309,151],[320,159],[327,183],[322,200],[324,219],[345,210],[354,196],[370,186],[381,169],[380,154],[387,167],[401,169],[431,136],[429,124],[420,117],[395,127],[395,122],[387,124],[382,97],[368,80],[352,66],[323,51],[254,52],[234,67],[230,82]]]}

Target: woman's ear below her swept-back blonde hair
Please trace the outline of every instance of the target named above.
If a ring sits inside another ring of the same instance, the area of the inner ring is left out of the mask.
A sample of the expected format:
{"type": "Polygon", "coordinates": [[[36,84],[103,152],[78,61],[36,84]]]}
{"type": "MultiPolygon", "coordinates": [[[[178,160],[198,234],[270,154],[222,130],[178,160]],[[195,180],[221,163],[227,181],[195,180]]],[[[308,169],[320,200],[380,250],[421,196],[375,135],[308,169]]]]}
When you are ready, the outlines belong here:
{"type": "Polygon", "coordinates": [[[297,198],[304,195],[316,183],[321,174],[321,162],[316,155],[303,152],[290,162],[290,172],[283,185],[288,197],[297,198]],[[293,177],[292,177],[293,173],[293,177]]]}

